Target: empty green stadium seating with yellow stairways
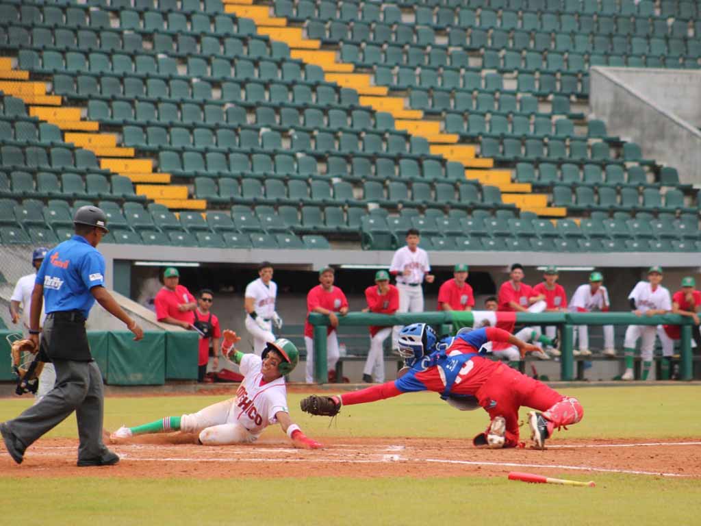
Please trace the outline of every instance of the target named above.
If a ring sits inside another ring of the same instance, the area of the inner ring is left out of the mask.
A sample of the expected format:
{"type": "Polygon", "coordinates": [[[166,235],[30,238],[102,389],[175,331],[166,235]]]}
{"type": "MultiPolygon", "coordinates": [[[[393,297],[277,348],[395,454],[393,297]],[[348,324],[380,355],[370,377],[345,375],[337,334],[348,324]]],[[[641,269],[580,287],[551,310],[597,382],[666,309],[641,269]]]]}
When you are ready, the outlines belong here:
{"type": "Polygon", "coordinates": [[[90,201],[115,243],[697,251],[695,191],[583,105],[590,65],[699,67],[696,15],[6,0],[0,241],[55,242],[90,201]]]}

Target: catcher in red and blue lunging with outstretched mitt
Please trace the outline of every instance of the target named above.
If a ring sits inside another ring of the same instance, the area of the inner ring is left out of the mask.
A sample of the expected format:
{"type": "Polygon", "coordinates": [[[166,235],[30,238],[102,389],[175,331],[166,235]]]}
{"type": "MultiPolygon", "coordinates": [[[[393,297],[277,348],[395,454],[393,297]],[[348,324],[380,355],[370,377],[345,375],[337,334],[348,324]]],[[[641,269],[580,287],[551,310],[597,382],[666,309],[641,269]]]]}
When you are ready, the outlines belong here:
{"type": "Polygon", "coordinates": [[[311,414],[334,416],[343,405],[375,402],[413,391],[434,391],[461,410],[481,406],[491,422],[475,436],[477,447],[522,447],[519,442],[519,407],[529,412],[533,447],[543,449],[555,428],[576,424],[584,410],[576,398],[562,396],[505,363],[490,360],[479,349],[486,342],[508,342],[521,355],[538,350],[509,332],[490,327],[459,334],[449,342],[437,342],[426,323],[407,325],[400,331],[400,353],[407,367],[394,382],[386,382],[340,396],[308,396],[301,409],[311,414]],[[437,345],[438,343],[438,345],[437,345]],[[444,344],[444,345],[442,345],[444,344]],[[445,345],[447,344],[447,345],[445,345]]]}

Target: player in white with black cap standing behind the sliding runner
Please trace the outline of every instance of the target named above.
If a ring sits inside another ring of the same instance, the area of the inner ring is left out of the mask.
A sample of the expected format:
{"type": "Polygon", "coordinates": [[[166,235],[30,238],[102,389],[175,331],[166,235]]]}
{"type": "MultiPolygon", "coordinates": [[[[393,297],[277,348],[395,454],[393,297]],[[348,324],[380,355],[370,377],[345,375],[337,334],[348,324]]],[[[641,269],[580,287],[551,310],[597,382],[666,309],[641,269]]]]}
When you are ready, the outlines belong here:
{"type": "Polygon", "coordinates": [[[258,266],[258,276],[246,286],[243,306],[246,330],[253,337],[253,352],[261,356],[266,344],[275,340],[273,325],[282,328],[283,319],[275,312],[278,285],[273,281],[273,265],[262,262],[258,266]]]}

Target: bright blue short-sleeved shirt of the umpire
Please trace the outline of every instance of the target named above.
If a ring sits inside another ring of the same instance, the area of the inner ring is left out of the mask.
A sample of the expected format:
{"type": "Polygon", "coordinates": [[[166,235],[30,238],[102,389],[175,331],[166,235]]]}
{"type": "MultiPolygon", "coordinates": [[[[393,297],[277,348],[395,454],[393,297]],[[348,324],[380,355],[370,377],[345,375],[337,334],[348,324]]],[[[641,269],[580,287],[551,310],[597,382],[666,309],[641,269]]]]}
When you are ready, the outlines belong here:
{"type": "Polygon", "coordinates": [[[44,311],[81,311],[88,317],[93,287],[104,286],[104,257],[83,236],[73,236],[49,250],[36,281],[43,285],[44,311]]]}

